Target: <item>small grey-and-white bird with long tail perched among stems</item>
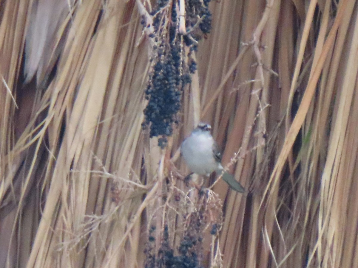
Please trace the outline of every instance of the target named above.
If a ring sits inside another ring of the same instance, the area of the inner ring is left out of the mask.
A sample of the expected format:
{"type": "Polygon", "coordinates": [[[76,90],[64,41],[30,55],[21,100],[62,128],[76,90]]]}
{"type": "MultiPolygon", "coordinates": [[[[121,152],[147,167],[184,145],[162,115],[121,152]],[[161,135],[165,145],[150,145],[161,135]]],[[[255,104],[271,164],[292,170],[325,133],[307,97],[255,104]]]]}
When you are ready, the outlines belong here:
{"type": "MultiPolygon", "coordinates": [[[[221,165],[221,154],[210,131],[211,125],[199,123],[192,134],[183,141],[180,148],[189,169],[199,175],[209,176],[213,171],[218,174],[224,171],[221,165]]],[[[240,193],[245,192],[245,188],[233,175],[224,172],[222,178],[232,189],[240,193]]]]}

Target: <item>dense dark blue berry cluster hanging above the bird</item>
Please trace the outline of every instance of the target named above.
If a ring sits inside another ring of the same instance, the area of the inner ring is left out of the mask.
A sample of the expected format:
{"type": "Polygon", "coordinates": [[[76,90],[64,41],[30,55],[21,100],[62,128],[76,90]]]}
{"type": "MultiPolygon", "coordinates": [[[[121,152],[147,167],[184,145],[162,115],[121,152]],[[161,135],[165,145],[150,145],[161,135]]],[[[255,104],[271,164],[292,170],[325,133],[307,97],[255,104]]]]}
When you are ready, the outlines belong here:
{"type": "MultiPolygon", "coordinates": [[[[181,1],[181,0],[180,0],[181,1]]],[[[185,1],[186,34],[179,34],[178,0],[158,0],[150,13],[154,33],[152,65],[145,90],[148,104],[144,109],[144,129],[150,129],[150,137],[159,137],[158,145],[164,148],[167,137],[173,134],[173,124],[179,123],[182,92],[191,83],[191,75],[197,69],[192,58],[198,41],[211,30],[210,0],[185,1]],[[185,50],[185,47],[188,49],[185,50]],[[188,52],[185,52],[188,51],[188,52]]],[[[141,23],[147,27],[145,17],[141,23]]]]}

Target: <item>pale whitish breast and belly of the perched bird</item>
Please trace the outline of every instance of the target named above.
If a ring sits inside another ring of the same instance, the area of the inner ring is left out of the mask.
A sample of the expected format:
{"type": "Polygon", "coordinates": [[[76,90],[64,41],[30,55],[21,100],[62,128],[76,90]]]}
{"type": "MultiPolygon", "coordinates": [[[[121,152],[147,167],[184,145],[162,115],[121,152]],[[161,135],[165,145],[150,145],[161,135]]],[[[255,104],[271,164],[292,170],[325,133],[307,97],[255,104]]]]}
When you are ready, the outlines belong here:
{"type": "Polygon", "coordinates": [[[197,174],[208,175],[219,163],[213,155],[214,139],[209,132],[193,132],[184,140],[181,152],[189,169],[197,174]]]}

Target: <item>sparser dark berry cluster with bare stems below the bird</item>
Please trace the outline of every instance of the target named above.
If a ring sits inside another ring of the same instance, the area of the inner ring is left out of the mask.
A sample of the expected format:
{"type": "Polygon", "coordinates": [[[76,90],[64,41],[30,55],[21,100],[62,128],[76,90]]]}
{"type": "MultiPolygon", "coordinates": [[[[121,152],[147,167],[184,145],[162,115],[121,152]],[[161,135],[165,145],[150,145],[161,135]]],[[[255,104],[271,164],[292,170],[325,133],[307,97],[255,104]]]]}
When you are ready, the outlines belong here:
{"type": "MultiPolygon", "coordinates": [[[[183,211],[178,206],[185,203],[185,201],[177,202],[171,200],[171,209],[175,209],[178,218],[181,218],[183,223],[180,224],[179,229],[174,230],[174,226],[171,224],[169,225],[172,229],[168,227],[168,224],[164,224],[164,228],[160,230],[154,225],[150,226],[148,230],[148,242],[144,250],[146,255],[145,268],[204,267],[204,233],[210,231],[214,240],[218,237],[222,227],[223,213],[222,202],[217,195],[209,195],[208,191],[202,191],[199,194],[195,210],[193,207],[184,206],[185,211],[183,211]],[[189,210],[191,211],[189,212],[189,210]],[[159,232],[161,235],[155,232],[159,232]],[[176,232],[177,238],[179,238],[178,244],[174,243],[172,237],[174,232],[176,232]],[[156,238],[160,240],[156,241],[156,238]],[[156,249],[156,247],[159,249],[156,249]]],[[[165,214],[165,223],[178,220],[170,220],[168,218],[169,214],[165,214]]],[[[161,214],[159,217],[161,217],[161,214]]]]}

